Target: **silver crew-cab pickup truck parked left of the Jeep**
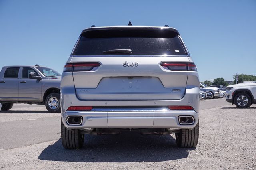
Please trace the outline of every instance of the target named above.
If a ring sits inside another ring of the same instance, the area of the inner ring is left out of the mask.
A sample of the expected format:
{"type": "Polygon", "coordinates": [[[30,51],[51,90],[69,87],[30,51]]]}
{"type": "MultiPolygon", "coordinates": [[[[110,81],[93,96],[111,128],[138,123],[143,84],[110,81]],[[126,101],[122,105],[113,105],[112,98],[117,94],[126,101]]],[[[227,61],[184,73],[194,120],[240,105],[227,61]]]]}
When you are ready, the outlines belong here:
{"type": "Polygon", "coordinates": [[[45,105],[51,113],[60,113],[60,73],[36,66],[5,66],[0,72],[1,110],[13,103],[45,105]]]}

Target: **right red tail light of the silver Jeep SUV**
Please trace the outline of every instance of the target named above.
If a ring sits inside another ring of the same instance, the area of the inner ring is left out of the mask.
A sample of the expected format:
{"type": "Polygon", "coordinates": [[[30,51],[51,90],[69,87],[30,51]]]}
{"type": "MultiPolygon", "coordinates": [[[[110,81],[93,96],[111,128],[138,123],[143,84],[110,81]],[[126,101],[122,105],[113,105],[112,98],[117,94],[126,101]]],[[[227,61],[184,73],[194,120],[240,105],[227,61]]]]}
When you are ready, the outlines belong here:
{"type": "Polygon", "coordinates": [[[172,71],[197,71],[197,67],[194,63],[168,63],[163,62],[160,64],[162,67],[167,67],[172,71]]]}

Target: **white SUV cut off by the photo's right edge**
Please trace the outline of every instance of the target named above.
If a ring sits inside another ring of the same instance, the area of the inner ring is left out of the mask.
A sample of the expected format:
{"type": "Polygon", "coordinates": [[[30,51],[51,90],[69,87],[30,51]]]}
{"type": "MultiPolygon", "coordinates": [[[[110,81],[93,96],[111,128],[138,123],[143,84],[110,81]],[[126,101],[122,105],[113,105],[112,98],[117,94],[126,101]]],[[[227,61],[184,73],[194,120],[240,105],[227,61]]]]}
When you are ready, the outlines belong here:
{"type": "Polygon", "coordinates": [[[226,101],[235,104],[238,108],[247,108],[252,103],[256,103],[256,81],[229,85],[226,89],[226,101]]]}

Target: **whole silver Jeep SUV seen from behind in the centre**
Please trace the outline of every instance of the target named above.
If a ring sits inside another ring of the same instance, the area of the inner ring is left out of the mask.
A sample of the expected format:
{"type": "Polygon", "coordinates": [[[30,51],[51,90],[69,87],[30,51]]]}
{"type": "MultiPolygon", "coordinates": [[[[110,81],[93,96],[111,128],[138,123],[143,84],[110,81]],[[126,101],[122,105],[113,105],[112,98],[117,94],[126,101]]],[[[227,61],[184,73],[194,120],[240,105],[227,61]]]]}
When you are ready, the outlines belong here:
{"type": "Polygon", "coordinates": [[[64,148],[84,134],[176,134],[195,147],[200,85],[196,65],[175,28],[91,27],[82,31],[62,73],[64,148]]]}

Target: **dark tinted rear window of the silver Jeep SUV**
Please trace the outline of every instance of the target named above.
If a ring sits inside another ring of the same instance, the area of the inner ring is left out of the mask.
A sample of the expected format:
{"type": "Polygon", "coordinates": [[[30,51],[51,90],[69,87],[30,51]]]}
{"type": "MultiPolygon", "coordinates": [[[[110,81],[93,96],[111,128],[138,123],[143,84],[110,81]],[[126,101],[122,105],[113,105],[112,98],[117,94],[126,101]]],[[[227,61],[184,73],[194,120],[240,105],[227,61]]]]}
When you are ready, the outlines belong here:
{"type": "Polygon", "coordinates": [[[178,33],[166,29],[110,29],[84,32],[72,55],[186,55],[178,33]],[[127,53],[103,53],[130,49],[127,53]]]}

